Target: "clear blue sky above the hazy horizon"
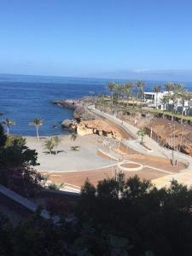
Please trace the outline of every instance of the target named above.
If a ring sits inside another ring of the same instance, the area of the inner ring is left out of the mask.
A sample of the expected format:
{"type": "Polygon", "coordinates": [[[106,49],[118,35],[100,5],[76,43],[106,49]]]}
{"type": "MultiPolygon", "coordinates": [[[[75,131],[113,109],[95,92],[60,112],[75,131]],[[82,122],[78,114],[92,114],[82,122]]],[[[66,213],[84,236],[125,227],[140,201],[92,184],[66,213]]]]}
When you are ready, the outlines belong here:
{"type": "Polygon", "coordinates": [[[191,0],[0,0],[0,73],[191,72],[191,11],[191,0]]]}

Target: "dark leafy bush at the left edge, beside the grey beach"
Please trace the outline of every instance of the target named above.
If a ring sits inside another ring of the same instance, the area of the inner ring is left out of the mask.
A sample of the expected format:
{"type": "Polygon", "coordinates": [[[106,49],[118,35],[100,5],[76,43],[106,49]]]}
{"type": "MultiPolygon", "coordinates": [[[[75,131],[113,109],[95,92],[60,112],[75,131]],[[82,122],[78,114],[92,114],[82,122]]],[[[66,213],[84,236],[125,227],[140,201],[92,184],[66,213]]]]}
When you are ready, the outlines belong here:
{"type": "Polygon", "coordinates": [[[0,125],[0,184],[25,197],[38,194],[44,177],[31,166],[37,166],[38,153],[26,147],[26,139],[3,133],[0,125]]]}

